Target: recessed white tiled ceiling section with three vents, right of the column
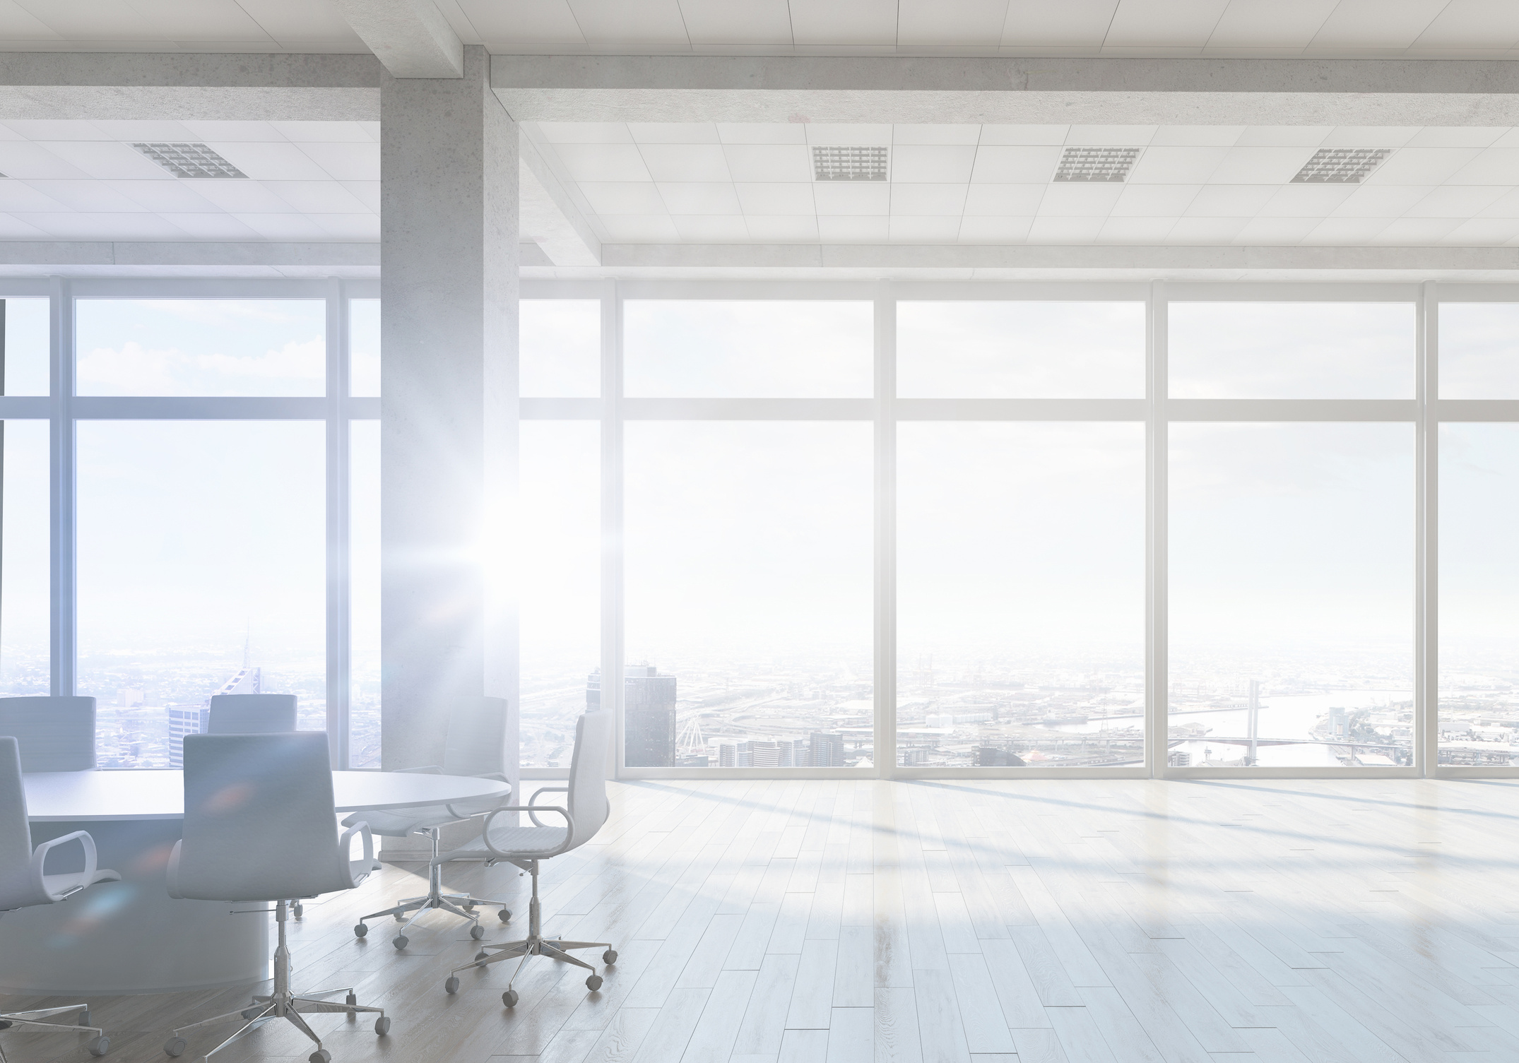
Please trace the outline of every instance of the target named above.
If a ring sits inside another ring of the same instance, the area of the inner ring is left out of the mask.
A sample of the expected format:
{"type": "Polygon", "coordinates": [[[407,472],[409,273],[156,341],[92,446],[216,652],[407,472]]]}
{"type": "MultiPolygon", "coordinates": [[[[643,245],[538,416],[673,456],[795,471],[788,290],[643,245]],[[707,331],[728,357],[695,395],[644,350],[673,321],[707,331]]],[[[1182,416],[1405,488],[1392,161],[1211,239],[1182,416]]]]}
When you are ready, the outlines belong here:
{"type": "Polygon", "coordinates": [[[1519,246],[1519,129],[529,126],[603,243],[1519,246]],[[890,182],[814,182],[811,144],[887,144],[890,182]],[[1051,184],[1063,144],[1135,144],[1126,184],[1051,184]],[[1361,185],[1318,147],[1393,147],[1361,185]]]}

